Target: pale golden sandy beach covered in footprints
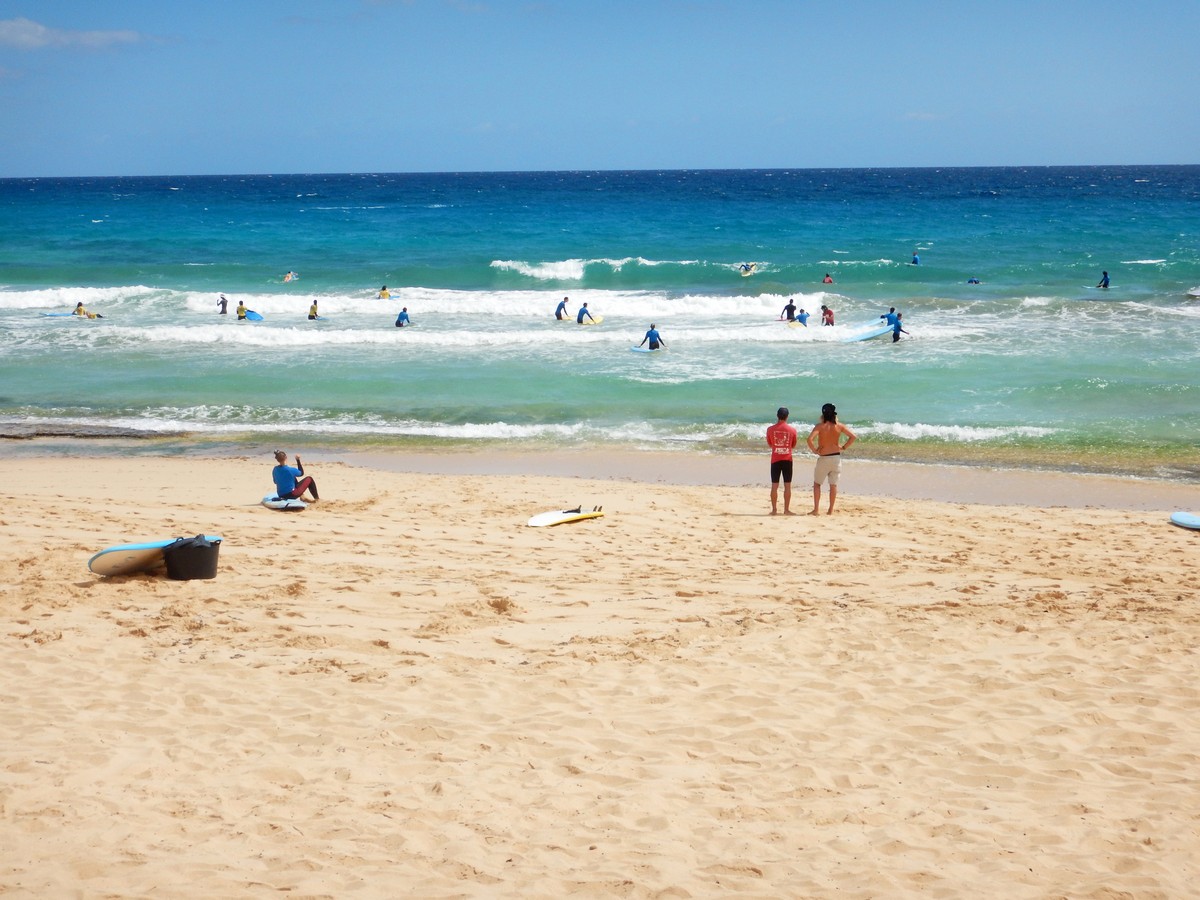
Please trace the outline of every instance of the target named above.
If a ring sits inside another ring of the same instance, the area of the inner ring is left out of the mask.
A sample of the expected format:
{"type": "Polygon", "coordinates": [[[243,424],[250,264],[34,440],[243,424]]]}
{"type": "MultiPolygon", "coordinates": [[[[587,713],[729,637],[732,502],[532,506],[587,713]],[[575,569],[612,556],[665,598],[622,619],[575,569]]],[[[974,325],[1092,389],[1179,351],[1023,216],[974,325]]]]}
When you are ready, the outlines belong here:
{"type": "Polygon", "coordinates": [[[1200,486],[302,456],[2,460],[0,893],[1195,895],[1200,486]]]}

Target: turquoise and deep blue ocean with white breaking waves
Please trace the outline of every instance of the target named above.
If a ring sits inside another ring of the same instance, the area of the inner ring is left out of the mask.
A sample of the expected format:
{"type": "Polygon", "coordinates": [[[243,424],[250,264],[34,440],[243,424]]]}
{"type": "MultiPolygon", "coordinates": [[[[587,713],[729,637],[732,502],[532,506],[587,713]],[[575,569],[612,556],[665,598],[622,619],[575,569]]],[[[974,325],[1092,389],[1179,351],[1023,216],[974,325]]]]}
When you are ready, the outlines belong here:
{"type": "Polygon", "coordinates": [[[1196,288],[1198,166],[8,179],[0,436],[763,454],[833,402],[859,456],[1194,482],[1196,288]]]}

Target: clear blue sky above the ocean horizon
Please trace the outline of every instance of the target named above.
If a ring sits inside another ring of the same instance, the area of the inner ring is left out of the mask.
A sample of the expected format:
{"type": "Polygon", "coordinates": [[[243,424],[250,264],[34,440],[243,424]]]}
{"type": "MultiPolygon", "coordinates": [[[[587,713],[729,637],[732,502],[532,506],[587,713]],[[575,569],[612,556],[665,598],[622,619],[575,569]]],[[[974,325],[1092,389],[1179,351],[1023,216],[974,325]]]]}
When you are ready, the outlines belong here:
{"type": "Polygon", "coordinates": [[[1196,0],[0,0],[0,176],[1200,162],[1196,0]]]}

